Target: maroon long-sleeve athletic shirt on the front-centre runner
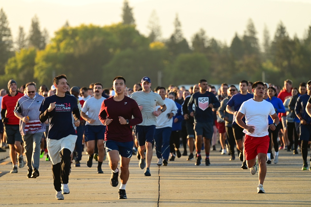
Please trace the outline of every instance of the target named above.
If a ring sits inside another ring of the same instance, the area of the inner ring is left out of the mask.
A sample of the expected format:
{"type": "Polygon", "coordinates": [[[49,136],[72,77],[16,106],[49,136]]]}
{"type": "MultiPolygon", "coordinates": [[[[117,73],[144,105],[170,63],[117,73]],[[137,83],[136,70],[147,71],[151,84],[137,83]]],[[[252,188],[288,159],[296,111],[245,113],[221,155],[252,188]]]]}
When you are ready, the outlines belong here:
{"type": "Polygon", "coordinates": [[[132,130],[130,126],[138,125],[143,122],[143,116],[139,110],[138,104],[134,99],[125,96],[122,101],[113,100],[113,96],[105,99],[101,103],[99,120],[105,124],[106,117],[112,119],[112,122],[106,126],[105,141],[115,140],[118,142],[133,141],[132,130]],[[119,116],[129,120],[129,124],[121,125],[119,116]],[[134,116],[134,119],[132,119],[134,116]]]}

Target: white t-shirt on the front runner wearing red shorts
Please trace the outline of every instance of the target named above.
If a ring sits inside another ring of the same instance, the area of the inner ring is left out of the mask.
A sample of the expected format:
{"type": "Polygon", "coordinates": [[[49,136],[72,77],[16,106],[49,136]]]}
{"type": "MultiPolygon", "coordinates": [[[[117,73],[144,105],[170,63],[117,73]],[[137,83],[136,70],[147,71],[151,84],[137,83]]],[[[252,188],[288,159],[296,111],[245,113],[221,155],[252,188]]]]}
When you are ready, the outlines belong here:
{"type": "Polygon", "coordinates": [[[243,132],[253,137],[263,137],[268,135],[268,116],[276,113],[273,105],[262,99],[262,101],[254,101],[249,99],[244,101],[239,109],[239,112],[245,115],[245,123],[247,126],[255,126],[253,133],[243,132]]]}

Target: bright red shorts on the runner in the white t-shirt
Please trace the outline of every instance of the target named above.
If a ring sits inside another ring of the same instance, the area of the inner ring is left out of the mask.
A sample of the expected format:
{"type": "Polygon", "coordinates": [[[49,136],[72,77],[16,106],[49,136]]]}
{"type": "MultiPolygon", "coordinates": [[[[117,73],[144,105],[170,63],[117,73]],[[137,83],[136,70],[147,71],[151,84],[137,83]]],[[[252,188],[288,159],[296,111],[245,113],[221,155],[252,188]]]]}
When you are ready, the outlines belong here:
{"type": "Polygon", "coordinates": [[[256,158],[258,153],[266,154],[268,152],[269,142],[270,138],[268,135],[264,137],[253,137],[245,134],[245,159],[252,160],[256,158]]]}

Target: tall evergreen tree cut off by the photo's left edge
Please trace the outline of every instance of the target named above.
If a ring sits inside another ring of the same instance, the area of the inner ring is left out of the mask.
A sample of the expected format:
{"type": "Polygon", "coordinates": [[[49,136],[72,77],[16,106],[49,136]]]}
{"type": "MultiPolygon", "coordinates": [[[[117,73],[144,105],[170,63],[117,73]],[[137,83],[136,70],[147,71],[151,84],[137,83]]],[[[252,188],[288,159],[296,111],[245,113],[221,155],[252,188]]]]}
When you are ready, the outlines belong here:
{"type": "Polygon", "coordinates": [[[3,9],[0,10],[0,74],[4,73],[5,64],[12,56],[12,35],[9,28],[7,15],[3,9]]]}

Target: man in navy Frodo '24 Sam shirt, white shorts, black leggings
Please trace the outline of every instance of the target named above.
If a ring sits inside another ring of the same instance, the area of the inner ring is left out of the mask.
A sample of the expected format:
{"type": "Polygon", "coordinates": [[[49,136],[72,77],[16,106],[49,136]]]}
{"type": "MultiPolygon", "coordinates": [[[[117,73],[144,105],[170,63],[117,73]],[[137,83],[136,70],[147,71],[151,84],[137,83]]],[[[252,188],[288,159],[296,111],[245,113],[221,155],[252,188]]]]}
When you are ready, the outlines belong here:
{"type": "Polygon", "coordinates": [[[56,199],[64,200],[63,194],[69,194],[68,179],[71,165],[71,153],[73,153],[77,135],[73,128],[80,125],[80,111],[77,99],[65,94],[67,91],[67,77],[63,74],[54,78],[56,93],[46,97],[42,102],[40,122],[49,121],[49,132],[46,139],[49,157],[52,161],[52,172],[56,199]],[[60,152],[60,153],[59,153],[60,152]]]}

